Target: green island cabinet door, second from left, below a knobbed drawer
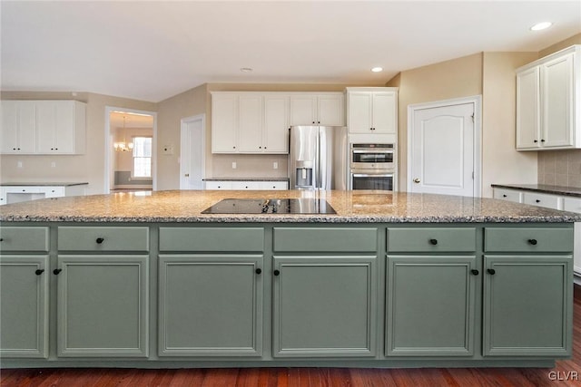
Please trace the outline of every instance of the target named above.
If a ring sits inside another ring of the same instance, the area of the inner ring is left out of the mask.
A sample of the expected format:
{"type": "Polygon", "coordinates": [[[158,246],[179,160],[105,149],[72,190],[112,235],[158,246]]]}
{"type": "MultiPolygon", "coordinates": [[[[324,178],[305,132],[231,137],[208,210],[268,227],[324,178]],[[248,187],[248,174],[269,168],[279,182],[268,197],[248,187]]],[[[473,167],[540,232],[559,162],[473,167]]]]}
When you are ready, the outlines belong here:
{"type": "Polygon", "coordinates": [[[54,276],[59,356],[147,356],[148,256],[58,256],[54,276]]]}

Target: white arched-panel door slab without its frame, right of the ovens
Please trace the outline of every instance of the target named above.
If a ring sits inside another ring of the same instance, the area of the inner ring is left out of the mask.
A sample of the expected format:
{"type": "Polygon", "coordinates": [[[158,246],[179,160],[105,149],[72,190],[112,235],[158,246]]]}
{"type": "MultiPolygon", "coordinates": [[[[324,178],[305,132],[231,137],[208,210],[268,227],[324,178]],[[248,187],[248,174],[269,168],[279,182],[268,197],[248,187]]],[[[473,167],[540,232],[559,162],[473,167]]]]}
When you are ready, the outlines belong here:
{"type": "Polygon", "coordinates": [[[474,104],[414,112],[411,192],[474,196],[474,104]]]}

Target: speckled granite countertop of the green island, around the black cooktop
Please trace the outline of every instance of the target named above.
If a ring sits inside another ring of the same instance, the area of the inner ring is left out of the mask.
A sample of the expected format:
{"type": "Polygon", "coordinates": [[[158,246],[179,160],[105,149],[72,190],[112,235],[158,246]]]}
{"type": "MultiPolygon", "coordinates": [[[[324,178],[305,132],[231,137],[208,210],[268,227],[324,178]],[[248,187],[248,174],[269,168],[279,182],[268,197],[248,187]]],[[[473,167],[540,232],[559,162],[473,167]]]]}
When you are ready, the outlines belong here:
{"type": "Polygon", "coordinates": [[[574,222],[581,215],[492,198],[372,190],[170,190],[44,198],[0,206],[0,221],[48,222],[574,222]],[[335,215],[201,214],[222,198],[326,199],[335,215]]]}

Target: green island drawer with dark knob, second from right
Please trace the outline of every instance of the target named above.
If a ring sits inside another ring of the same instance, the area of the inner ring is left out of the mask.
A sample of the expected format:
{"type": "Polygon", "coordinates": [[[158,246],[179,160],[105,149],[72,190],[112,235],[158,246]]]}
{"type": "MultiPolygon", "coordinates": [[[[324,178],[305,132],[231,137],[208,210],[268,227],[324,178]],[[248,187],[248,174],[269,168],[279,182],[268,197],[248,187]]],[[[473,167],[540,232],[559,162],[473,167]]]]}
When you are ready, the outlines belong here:
{"type": "Polygon", "coordinates": [[[471,252],[475,250],[475,227],[388,228],[390,253],[471,252]]]}

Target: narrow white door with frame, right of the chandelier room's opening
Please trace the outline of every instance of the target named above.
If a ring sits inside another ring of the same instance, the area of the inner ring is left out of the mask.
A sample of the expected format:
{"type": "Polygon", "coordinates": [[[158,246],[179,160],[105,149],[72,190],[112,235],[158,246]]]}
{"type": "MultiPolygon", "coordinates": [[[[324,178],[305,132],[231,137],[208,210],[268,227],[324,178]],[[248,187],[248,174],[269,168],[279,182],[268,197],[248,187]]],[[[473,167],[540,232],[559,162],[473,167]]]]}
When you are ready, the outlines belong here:
{"type": "Polygon", "coordinates": [[[205,114],[182,119],[180,189],[203,189],[205,175],[205,114]]]}

